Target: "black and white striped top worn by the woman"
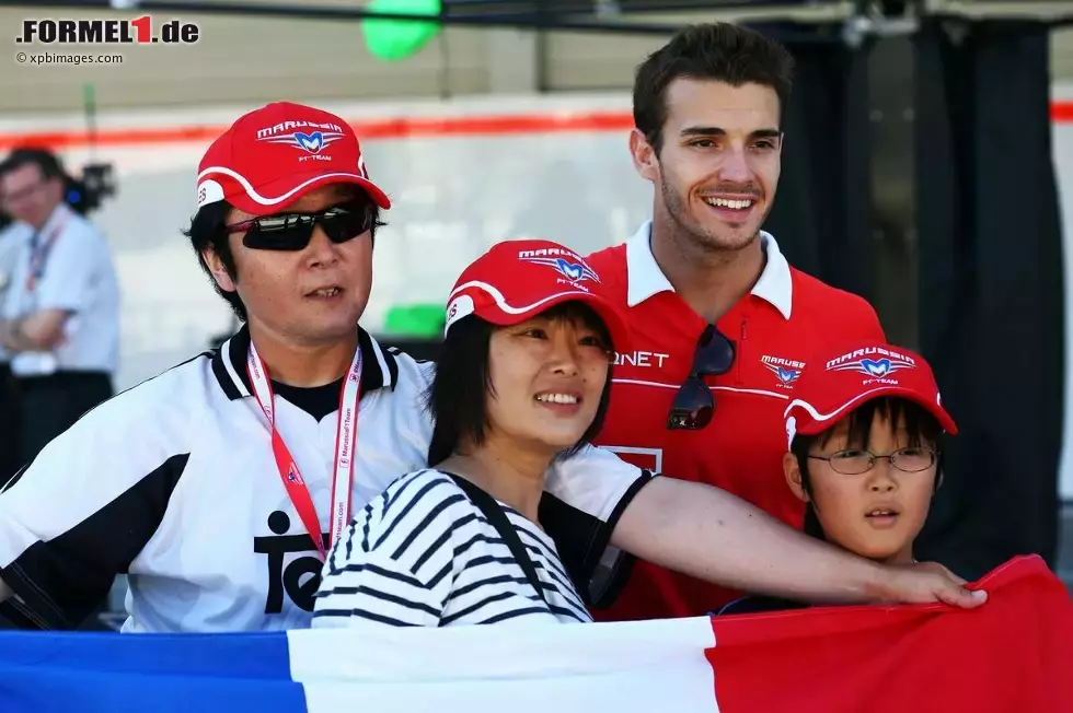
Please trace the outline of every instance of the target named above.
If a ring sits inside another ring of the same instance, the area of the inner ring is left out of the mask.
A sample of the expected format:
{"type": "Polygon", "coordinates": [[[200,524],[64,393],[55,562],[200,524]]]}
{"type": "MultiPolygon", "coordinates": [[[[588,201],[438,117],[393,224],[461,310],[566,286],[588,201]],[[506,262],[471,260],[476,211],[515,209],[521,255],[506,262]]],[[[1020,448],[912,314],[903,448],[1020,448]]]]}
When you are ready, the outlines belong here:
{"type": "Polygon", "coordinates": [[[552,539],[499,503],[547,604],[481,510],[445,472],[409,472],[351,521],[324,564],[313,627],[591,621],[552,539]]]}

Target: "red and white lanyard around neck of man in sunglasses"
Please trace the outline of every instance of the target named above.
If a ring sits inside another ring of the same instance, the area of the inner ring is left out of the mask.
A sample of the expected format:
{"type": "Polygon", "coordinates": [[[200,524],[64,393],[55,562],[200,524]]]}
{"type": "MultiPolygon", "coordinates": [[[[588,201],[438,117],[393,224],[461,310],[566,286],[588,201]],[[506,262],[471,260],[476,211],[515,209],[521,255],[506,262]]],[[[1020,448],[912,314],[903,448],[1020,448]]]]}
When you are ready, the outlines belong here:
{"type": "MultiPolygon", "coordinates": [[[[257,404],[261,405],[265,418],[268,419],[268,429],[272,431],[272,453],[276,457],[279,477],[284,481],[290,501],[295,504],[295,510],[298,511],[298,516],[302,518],[302,524],[305,525],[310,537],[313,538],[313,542],[321,553],[321,559],[324,559],[326,550],[321,537],[321,524],[316,517],[316,509],[313,506],[313,499],[309,494],[309,487],[298,469],[298,464],[295,463],[295,457],[290,454],[290,448],[287,447],[282,436],[279,435],[279,431],[276,430],[275,396],[265,372],[265,363],[253,342],[250,342],[246,372],[250,374],[250,383],[253,385],[257,404]]],[[[354,483],[354,451],[357,449],[358,441],[360,385],[361,349],[358,348],[354,353],[354,361],[350,363],[346,379],[343,382],[343,388],[339,389],[339,417],[335,432],[335,471],[332,479],[328,548],[338,541],[343,528],[350,522],[350,488],[354,483]]]]}

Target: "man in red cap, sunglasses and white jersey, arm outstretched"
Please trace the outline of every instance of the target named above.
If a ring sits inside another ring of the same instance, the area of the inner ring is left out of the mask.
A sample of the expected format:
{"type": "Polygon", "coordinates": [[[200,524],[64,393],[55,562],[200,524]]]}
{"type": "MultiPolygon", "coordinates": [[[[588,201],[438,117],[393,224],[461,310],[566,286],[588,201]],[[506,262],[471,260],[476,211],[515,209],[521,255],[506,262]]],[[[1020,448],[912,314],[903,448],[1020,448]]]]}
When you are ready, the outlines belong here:
{"type": "MultiPolygon", "coordinates": [[[[187,235],[243,327],[88,413],[0,493],[0,599],[23,626],[77,626],[127,573],[124,631],[308,627],[355,510],[426,465],[434,366],[358,326],[390,202],[346,122],[244,115],[206,152],[197,202],[187,235]]],[[[532,257],[598,281],[573,254],[532,257]]],[[[557,463],[546,489],[542,523],[591,534],[569,554],[581,575],[611,541],[757,591],[978,604],[946,572],[852,558],[607,451],[557,463]]]]}

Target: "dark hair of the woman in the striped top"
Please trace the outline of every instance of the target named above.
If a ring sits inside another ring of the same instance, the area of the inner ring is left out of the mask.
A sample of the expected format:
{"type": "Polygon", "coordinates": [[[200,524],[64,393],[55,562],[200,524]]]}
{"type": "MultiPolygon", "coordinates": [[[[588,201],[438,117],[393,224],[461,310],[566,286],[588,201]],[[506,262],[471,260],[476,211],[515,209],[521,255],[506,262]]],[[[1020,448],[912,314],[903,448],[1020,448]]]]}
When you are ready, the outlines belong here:
{"type": "MultiPolygon", "coordinates": [[[[588,305],[564,302],[542,313],[543,317],[584,324],[593,329],[608,346],[608,381],[600,395],[592,423],[580,441],[559,454],[568,458],[591,443],[603,428],[611,399],[611,369],[614,346],[603,320],[588,305]]],[[[446,460],[463,443],[481,444],[487,434],[488,412],[485,398],[492,388],[489,343],[499,329],[480,317],[470,315],[451,325],[436,365],[436,376],[426,394],[426,405],[435,426],[428,446],[428,465],[446,460]]]]}

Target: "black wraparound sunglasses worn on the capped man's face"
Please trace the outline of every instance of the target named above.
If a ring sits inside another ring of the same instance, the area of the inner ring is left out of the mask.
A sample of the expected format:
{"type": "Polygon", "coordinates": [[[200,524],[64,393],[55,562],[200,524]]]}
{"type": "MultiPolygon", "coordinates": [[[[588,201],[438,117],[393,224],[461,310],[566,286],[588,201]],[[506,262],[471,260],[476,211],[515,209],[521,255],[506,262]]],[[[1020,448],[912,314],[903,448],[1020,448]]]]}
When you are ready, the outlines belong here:
{"type": "Polygon", "coordinates": [[[227,226],[228,234],[241,233],[242,244],[259,250],[301,250],[313,237],[318,224],[333,243],[346,243],[376,225],[371,203],[353,202],[310,213],[261,215],[227,226]]]}

